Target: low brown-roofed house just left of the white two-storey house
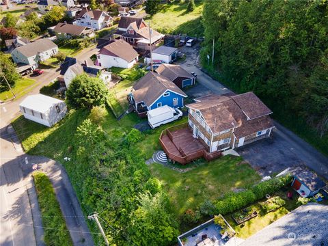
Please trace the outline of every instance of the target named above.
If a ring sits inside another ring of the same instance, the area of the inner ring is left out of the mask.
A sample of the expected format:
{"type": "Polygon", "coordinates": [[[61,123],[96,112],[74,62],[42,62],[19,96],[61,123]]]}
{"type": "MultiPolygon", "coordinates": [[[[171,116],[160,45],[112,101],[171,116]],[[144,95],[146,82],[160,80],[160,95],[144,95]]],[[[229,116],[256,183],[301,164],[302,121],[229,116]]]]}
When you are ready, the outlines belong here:
{"type": "Polygon", "coordinates": [[[53,31],[58,39],[94,37],[93,29],[67,23],[58,23],[53,31]]]}

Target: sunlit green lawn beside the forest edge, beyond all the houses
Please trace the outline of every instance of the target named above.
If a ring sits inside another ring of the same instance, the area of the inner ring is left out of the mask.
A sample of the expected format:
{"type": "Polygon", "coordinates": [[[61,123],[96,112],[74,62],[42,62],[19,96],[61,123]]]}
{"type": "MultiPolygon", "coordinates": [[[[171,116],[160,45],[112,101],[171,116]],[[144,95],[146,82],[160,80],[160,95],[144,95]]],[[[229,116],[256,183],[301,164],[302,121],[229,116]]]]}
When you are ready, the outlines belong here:
{"type": "MultiPolygon", "coordinates": [[[[150,18],[150,25],[161,33],[187,33],[189,36],[202,36],[201,16],[203,3],[196,3],[197,8],[187,13],[187,3],[163,4],[160,12],[150,18]]],[[[148,22],[148,20],[146,20],[148,22]]]]}

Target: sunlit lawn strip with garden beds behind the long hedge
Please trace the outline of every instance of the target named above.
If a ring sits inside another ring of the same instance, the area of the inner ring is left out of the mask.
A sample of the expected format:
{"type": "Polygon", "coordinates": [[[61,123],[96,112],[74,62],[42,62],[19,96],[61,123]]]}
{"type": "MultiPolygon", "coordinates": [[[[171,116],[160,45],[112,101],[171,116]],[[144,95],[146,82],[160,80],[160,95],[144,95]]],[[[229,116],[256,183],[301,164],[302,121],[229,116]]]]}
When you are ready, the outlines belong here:
{"type": "MultiPolygon", "coordinates": [[[[281,208],[278,208],[277,210],[267,214],[261,210],[260,205],[258,203],[251,205],[251,208],[254,208],[256,211],[258,211],[258,216],[254,217],[253,219],[250,219],[249,221],[246,221],[244,226],[242,224],[238,225],[234,221],[234,219],[232,219],[231,215],[225,216],[228,223],[230,223],[230,226],[232,226],[232,228],[234,228],[234,230],[237,232],[238,237],[245,239],[255,234],[259,230],[262,230],[266,226],[269,226],[269,224],[273,223],[277,219],[283,217],[290,211],[297,208],[297,206],[299,206],[297,205],[298,195],[294,195],[292,200],[288,199],[287,191],[278,191],[273,196],[275,195],[279,195],[279,197],[284,199],[286,204],[281,208]]],[[[262,200],[259,202],[262,202],[262,200]]]]}

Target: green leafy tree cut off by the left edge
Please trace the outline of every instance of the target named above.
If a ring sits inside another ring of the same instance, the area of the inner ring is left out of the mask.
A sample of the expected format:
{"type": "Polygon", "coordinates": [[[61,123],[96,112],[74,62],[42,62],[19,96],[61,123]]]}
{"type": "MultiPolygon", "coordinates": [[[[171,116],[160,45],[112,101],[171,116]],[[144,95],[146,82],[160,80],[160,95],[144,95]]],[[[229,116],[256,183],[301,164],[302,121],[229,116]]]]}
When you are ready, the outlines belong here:
{"type": "Polygon", "coordinates": [[[4,77],[12,87],[20,79],[20,75],[16,72],[16,64],[12,62],[12,58],[0,52],[0,92],[9,90],[4,77]]]}

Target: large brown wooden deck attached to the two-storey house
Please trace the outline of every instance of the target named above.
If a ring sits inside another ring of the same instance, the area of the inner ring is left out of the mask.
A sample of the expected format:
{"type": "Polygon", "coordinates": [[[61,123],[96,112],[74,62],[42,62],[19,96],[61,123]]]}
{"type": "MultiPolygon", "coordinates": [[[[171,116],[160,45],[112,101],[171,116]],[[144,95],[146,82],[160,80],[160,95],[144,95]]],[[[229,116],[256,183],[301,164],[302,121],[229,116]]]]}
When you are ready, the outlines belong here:
{"type": "Polygon", "coordinates": [[[221,152],[208,153],[203,143],[193,137],[193,132],[189,130],[187,124],[164,130],[160,137],[160,143],[167,157],[181,164],[201,157],[210,161],[221,155],[221,152]]]}

